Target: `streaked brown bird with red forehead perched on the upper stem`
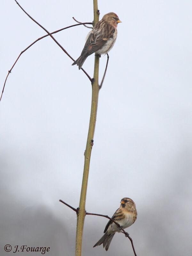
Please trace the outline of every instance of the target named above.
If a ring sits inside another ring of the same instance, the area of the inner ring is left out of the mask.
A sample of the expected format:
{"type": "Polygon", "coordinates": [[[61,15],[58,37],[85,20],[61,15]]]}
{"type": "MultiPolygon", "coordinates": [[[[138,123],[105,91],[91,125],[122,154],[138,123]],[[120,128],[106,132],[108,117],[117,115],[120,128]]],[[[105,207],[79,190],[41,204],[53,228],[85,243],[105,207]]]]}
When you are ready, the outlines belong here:
{"type": "Polygon", "coordinates": [[[93,52],[97,55],[106,54],[115,44],[117,24],[121,22],[114,12],[105,14],[87,35],[87,41],[79,58],[72,65],[77,64],[81,69],[84,61],[93,52]]]}

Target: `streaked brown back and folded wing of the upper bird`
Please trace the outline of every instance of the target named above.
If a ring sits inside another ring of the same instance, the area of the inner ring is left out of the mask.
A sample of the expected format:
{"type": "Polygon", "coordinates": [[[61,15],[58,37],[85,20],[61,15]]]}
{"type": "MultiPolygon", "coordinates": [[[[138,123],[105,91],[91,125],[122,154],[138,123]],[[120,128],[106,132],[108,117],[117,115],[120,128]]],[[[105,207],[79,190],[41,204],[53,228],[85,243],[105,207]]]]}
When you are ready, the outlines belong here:
{"type": "Polygon", "coordinates": [[[101,49],[107,40],[113,37],[115,28],[110,24],[104,24],[98,22],[96,26],[92,29],[92,32],[87,38],[87,41],[84,45],[82,55],[91,55],[93,52],[97,52],[101,49]]]}

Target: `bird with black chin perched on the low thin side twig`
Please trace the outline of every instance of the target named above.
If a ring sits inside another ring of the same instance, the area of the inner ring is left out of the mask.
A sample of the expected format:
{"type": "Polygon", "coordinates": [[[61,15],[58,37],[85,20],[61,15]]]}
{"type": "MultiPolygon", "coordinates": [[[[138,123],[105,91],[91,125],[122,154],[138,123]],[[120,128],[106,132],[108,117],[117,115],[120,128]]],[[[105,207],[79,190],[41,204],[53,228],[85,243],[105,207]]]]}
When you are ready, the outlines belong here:
{"type": "MultiPolygon", "coordinates": [[[[128,197],[121,199],[120,203],[120,207],[111,219],[115,220],[122,228],[128,228],[137,219],[135,203],[128,197]]],[[[107,251],[115,232],[121,232],[121,229],[112,220],[109,220],[104,230],[105,234],[93,247],[103,244],[103,248],[107,251]]]]}

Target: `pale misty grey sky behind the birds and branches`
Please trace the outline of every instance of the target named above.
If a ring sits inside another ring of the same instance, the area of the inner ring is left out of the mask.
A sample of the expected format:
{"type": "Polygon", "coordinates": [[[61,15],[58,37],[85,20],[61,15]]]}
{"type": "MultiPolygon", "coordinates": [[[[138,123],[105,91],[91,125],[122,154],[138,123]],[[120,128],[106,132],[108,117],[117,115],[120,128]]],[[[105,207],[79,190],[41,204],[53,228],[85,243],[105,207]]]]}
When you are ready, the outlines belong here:
{"type": "MultiPolygon", "coordinates": [[[[93,1],[20,0],[48,31],[92,22],[93,1]]],[[[112,216],[121,198],[138,218],[127,229],[137,255],[191,256],[192,2],[98,0],[100,19],[122,23],[109,52],[99,94],[86,210],[112,216]]],[[[0,85],[19,53],[46,33],[15,1],[0,10],[0,85]]],[[[90,29],[54,37],[79,57],[90,29]]],[[[100,81],[107,56],[100,58],[100,81]]],[[[5,244],[51,247],[45,255],[74,255],[87,139],[91,84],[50,38],[23,53],[0,102],[0,254],[5,244]]],[[[94,55],[83,68],[93,76],[94,55]]],[[[1,89],[1,91],[2,91],[1,89]]],[[[82,255],[134,255],[116,234],[108,252],[92,248],[108,220],[86,216],[82,255]]],[[[22,252],[16,255],[32,255],[22,252]]],[[[40,255],[40,253],[38,254],[40,255]]]]}

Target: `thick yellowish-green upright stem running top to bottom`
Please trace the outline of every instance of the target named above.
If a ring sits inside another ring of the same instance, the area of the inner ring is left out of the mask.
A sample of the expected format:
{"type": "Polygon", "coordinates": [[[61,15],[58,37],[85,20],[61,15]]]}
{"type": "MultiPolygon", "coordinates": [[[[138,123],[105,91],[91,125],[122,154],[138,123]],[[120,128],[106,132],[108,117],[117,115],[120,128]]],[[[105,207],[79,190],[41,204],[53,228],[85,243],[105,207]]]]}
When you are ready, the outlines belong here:
{"type": "MultiPolygon", "coordinates": [[[[93,9],[94,9],[94,21],[93,26],[99,20],[99,14],[97,12],[97,0],[93,0],[93,9]]],[[[90,158],[92,151],[92,140],[95,131],[95,123],[97,116],[97,105],[98,105],[98,97],[99,97],[99,56],[95,56],[95,65],[94,65],[94,82],[92,84],[92,104],[91,104],[91,115],[89,121],[89,131],[87,136],[87,144],[84,154],[84,172],[83,172],[83,180],[81,187],[81,196],[79,202],[79,212],[77,213],[77,227],[76,227],[76,252],[75,256],[81,256],[82,249],[82,238],[83,238],[83,227],[84,227],[84,218],[85,218],[85,201],[86,201],[86,193],[87,193],[87,183],[88,183],[88,175],[89,175],[89,166],[90,166],[90,158]]]]}

